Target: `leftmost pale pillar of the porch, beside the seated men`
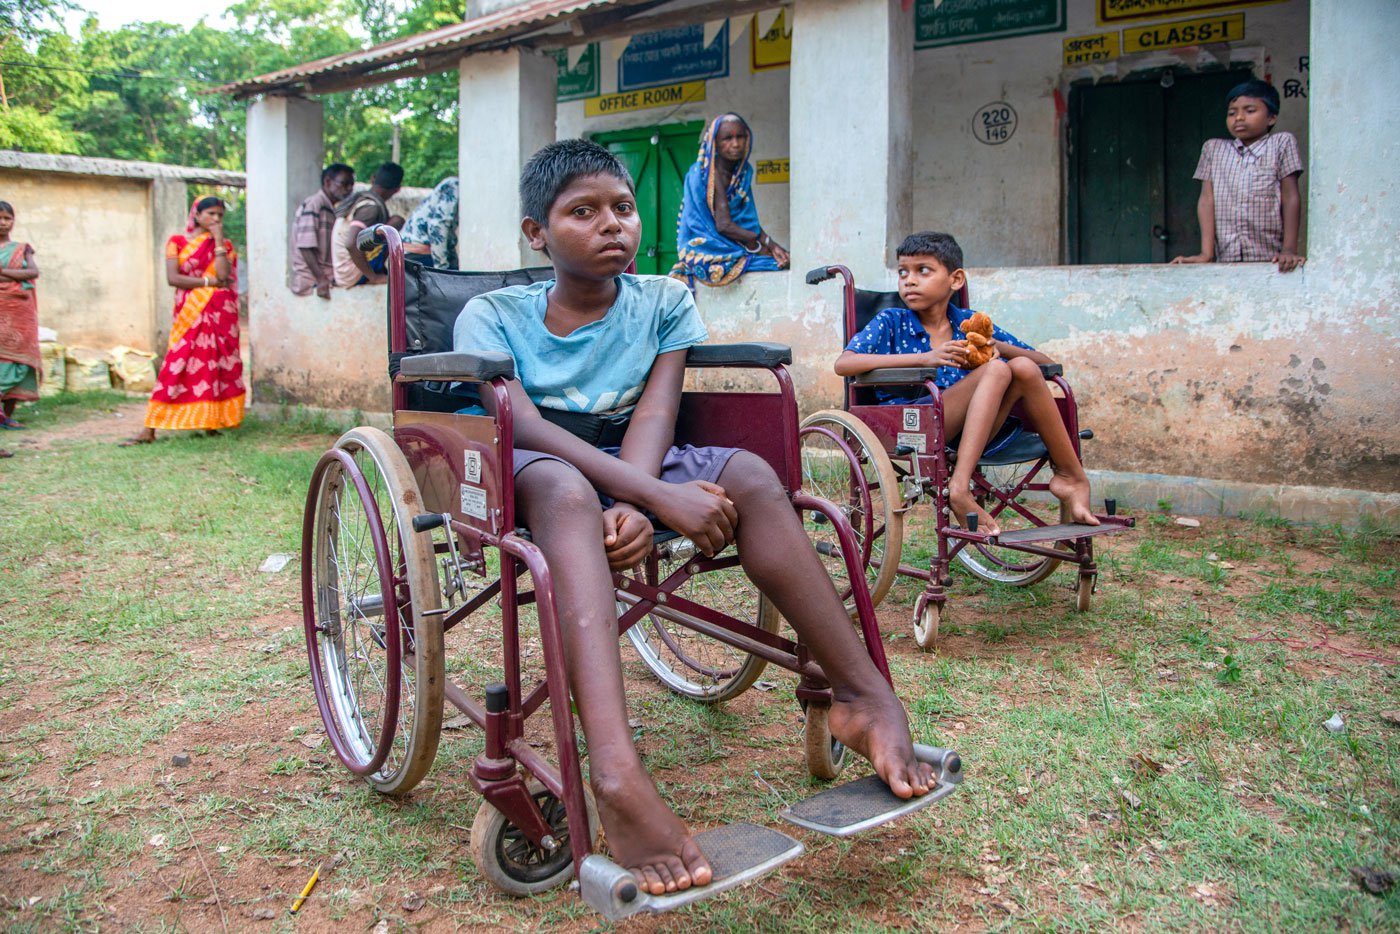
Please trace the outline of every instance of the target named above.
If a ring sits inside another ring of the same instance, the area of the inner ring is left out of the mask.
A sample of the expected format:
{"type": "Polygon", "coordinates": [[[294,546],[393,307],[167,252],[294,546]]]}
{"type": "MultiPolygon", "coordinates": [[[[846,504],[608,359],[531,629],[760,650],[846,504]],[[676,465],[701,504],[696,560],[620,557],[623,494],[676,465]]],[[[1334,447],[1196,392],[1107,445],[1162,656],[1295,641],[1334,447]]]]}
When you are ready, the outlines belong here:
{"type": "MultiPolygon", "coordinates": [[[[248,108],[248,342],[256,393],[259,370],[295,356],[273,309],[291,281],[291,218],[321,185],[325,116],[316,101],[267,97],[248,108]],[[263,314],[259,314],[263,311],[263,314]]],[[[245,274],[239,269],[239,274],[245,274]]]]}

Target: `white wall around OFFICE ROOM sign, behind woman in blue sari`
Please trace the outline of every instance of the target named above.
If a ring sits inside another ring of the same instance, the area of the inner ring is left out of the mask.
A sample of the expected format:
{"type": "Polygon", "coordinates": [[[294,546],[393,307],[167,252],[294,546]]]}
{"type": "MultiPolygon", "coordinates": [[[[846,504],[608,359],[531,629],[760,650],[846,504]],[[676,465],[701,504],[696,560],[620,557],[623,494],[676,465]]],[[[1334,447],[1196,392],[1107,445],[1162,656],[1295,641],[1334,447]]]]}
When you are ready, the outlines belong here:
{"type": "MultiPolygon", "coordinates": [[[[791,8],[788,17],[791,17],[791,8]]],[[[760,28],[767,25],[770,15],[760,15],[760,28]]],[[[609,130],[626,130],[636,126],[659,126],[662,123],[687,123],[690,120],[711,120],[720,113],[734,111],[748,120],[753,130],[753,161],[788,158],[788,76],[790,69],[769,69],[753,71],[750,53],[750,17],[735,17],[729,21],[729,76],[711,78],[706,83],[706,99],[683,104],[678,108],[654,108],[629,113],[585,118],[582,101],[564,101],[559,105],[557,139],[592,136],[609,130]],[[742,31],[741,31],[742,25],[742,31]]],[[[602,43],[601,81],[602,94],[617,91],[617,56],[627,39],[602,43]]],[[[820,120],[820,115],[813,115],[820,120]]],[[[696,151],[700,140],[696,139],[696,151]]],[[[791,214],[788,210],[788,185],[755,185],[759,204],[759,218],[763,230],[780,244],[791,242],[791,214]]],[[[675,235],[675,231],[672,231],[675,235]]]]}

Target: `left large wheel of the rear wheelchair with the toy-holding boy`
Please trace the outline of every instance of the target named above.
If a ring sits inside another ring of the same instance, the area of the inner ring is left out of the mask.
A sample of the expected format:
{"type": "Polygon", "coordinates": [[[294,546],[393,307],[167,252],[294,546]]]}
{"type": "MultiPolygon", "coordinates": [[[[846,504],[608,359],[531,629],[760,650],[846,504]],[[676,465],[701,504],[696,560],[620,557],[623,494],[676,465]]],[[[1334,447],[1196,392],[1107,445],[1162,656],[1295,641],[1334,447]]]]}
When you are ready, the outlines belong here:
{"type": "MultiPolygon", "coordinates": [[[[802,490],[836,503],[855,532],[871,602],[879,605],[899,573],[904,542],[903,497],[889,455],[875,433],[850,412],[825,409],[802,421],[802,490]]],[[[808,536],[836,583],[847,609],[855,612],[850,574],[830,522],[804,517],[808,536]]]]}

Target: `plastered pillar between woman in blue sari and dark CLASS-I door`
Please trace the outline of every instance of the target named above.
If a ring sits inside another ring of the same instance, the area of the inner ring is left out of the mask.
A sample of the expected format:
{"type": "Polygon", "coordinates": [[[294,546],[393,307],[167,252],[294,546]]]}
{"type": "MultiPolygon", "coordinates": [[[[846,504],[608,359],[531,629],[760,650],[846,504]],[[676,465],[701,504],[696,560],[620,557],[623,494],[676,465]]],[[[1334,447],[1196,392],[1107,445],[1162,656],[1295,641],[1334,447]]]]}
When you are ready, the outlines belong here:
{"type": "Polygon", "coordinates": [[[882,284],[911,218],[913,11],[798,0],[792,25],[792,266],[882,284]]]}

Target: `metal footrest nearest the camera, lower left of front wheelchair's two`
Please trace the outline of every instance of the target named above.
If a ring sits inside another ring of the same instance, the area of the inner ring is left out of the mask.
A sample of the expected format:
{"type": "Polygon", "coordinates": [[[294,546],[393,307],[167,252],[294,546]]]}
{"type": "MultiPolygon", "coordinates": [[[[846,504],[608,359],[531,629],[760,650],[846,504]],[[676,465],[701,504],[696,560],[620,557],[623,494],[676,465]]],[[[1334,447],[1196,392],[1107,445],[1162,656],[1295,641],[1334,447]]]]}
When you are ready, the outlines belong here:
{"type": "Polygon", "coordinates": [[[694,840],[714,870],[708,885],[696,885],[671,895],[651,895],[641,891],[631,872],[595,853],[580,868],[580,895],[609,921],[620,921],[638,912],[669,912],[767,875],[802,856],[806,849],[785,833],[753,823],[714,828],[697,833],[694,840]]]}

